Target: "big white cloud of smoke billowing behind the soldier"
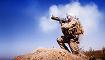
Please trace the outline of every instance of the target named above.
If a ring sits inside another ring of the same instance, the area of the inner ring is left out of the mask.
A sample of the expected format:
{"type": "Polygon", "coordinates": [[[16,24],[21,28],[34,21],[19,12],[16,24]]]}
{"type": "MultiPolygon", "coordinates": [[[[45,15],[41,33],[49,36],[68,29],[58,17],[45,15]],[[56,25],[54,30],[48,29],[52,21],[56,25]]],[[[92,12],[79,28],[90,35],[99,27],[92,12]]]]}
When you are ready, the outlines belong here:
{"type": "Polygon", "coordinates": [[[98,39],[101,38],[99,37],[99,35],[101,35],[101,32],[99,32],[99,24],[100,20],[103,19],[103,14],[99,11],[97,5],[81,5],[79,2],[72,2],[66,5],[52,5],[47,14],[47,16],[42,16],[40,19],[40,27],[43,32],[55,31],[58,28],[57,23],[51,22],[50,17],[52,14],[61,18],[66,17],[66,15],[73,15],[79,18],[85,30],[81,47],[84,49],[89,49],[90,47],[99,49],[100,46],[104,45],[104,43],[100,46],[96,45],[96,43],[101,43],[98,42],[98,39]]]}

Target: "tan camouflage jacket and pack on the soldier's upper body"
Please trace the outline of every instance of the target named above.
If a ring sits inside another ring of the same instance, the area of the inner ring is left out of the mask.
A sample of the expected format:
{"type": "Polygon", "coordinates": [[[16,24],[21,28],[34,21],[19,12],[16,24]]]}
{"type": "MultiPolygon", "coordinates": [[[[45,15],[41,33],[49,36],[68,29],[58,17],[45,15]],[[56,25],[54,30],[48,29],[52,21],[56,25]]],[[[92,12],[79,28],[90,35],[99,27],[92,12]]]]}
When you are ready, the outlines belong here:
{"type": "Polygon", "coordinates": [[[83,34],[83,28],[79,20],[72,19],[70,22],[61,23],[61,29],[64,35],[83,34]]]}

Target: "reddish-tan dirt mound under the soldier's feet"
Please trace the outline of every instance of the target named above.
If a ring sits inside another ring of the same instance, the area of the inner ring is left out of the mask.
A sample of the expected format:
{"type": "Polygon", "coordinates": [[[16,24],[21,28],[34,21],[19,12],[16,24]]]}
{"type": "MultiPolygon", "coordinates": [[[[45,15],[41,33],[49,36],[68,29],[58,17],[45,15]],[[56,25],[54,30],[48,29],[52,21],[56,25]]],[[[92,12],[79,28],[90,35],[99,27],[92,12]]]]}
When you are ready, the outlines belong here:
{"type": "Polygon", "coordinates": [[[86,60],[86,58],[71,54],[63,49],[41,48],[30,54],[17,56],[15,60],[86,60]]]}

